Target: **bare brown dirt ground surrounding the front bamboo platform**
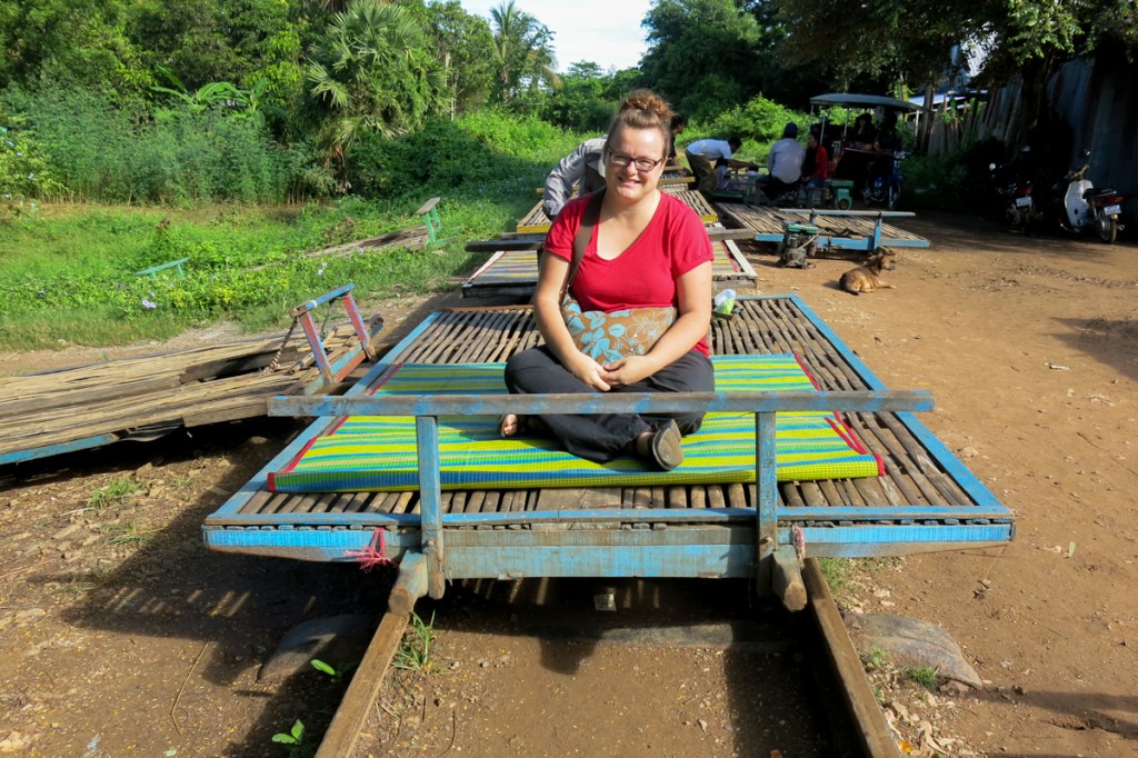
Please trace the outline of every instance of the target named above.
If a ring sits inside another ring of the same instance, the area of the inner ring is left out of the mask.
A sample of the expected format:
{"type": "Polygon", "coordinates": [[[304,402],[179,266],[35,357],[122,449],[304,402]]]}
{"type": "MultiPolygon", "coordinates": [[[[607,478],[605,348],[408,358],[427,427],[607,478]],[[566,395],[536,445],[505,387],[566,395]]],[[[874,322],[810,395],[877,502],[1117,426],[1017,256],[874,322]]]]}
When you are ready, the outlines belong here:
{"type": "MultiPolygon", "coordinates": [[[[800,294],[889,387],[931,390],[924,422],[1016,512],[1004,549],[866,563],[842,594],[945,627],[983,690],[874,683],[914,755],[1138,756],[1138,246],[935,214],[902,225],[932,246],[900,252],[896,289],[840,291],[848,261],[751,257],[760,291],[800,294]]],[[[395,336],[421,307],[378,310],[395,336]]],[[[203,337],[224,333],[182,343],[203,337]]],[[[381,608],[390,576],[211,553],[199,534],[296,429],[263,419],[0,470],[0,755],[298,756],[272,741],[298,719],[314,743],[343,684],[258,669],[302,621],[381,608]]],[[[815,697],[809,661],[765,642],[745,587],[618,587],[630,633],[706,619],[686,646],[551,643],[543,587],[522,590],[536,609],[506,583],[456,587],[436,609],[436,672],[393,679],[360,755],[826,755],[823,726],[794,720],[815,697]],[[502,605],[509,629],[485,625],[502,605]],[[750,648],[711,628],[741,621],[750,648]]],[[[587,624],[594,592],[559,586],[549,603],[587,624]]]]}

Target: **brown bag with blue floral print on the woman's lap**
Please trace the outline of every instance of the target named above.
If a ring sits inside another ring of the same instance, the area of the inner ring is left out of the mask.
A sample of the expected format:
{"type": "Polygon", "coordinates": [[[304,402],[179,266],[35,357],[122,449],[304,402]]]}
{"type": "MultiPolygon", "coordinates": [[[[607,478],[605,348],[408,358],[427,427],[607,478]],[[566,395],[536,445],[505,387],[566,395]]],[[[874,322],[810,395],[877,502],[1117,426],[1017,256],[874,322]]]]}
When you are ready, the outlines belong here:
{"type": "Polygon", "coordinates": [[[601,363],[627,355],[644,355],[676,320],[676,308],[625,308],[582,312],[580,304],[566,296],[561,315],[582,353],[601,363]]]}

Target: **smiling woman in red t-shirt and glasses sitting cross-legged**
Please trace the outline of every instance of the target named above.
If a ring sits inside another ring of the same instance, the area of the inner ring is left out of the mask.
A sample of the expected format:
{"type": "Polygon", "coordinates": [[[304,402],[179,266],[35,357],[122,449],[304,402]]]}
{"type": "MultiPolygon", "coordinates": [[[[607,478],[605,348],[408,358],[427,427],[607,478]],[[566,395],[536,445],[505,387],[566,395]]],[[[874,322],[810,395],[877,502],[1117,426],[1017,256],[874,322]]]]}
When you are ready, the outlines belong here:
{"type": "MultiPolygon", "coordinates": [[[[510,357],[511,393],[715,390],[711,242],[695,212],[657,188],[670,118],[668,104],[648,90],[621,104],[604,148],[605,188],[566,205],[545,238],[534,296],[544,344],[510,357]],[[599,326],[591,312],[620,326],[599,326]]],[[[696,431],[703,414],[537,421],[506,414],[500,430],[512,437],[543,428],[580,458],[603,463],[632,454],[669,470],[683,461],[681,437],[696,431]]]]}

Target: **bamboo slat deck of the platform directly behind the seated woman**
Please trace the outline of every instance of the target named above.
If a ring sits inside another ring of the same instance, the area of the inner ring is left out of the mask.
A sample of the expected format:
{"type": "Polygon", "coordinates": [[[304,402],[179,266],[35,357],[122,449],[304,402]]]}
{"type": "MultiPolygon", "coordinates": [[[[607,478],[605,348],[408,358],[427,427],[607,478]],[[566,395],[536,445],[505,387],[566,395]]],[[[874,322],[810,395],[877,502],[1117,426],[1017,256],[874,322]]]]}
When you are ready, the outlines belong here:
{"type": "MultiPolygon", "coordinates": [[[[758,274],[733,240],[712,242],[711,278],[716,289],[747,288],[758,274]]],[[[498,250],[462,285],[463,297],[530,297],[537,286],[534,250],[498,250]]]]}

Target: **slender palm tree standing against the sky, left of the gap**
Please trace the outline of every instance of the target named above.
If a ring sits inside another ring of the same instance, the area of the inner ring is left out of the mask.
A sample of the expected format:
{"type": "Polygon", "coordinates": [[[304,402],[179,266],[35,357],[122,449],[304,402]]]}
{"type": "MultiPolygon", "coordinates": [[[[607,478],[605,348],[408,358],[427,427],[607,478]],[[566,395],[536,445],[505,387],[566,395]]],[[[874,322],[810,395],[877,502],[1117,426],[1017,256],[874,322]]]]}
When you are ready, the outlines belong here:
{"type": "Polygon", "coordinates": [[[513,0],[492,8],[490,19],[494,27],[495,99],[498,102],[513,100],[523,84],[537,86],[544,82],[553,89],[561,86],[561,77],[553,69],[556,58],[550,47],[553,32],[519,10],[513,0]]]}

